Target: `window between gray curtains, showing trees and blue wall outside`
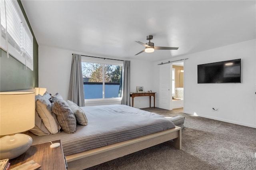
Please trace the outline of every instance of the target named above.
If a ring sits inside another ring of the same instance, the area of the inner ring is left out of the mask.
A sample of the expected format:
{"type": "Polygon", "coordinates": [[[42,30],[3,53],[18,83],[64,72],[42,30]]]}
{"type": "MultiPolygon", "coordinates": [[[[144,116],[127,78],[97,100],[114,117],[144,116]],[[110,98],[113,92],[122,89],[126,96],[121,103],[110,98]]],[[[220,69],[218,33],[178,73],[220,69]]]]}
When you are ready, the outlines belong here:
{"type": "Polygon", "coordinates": [[[122,97],[123,63],[82,61],[84,99],[122,97]]]}

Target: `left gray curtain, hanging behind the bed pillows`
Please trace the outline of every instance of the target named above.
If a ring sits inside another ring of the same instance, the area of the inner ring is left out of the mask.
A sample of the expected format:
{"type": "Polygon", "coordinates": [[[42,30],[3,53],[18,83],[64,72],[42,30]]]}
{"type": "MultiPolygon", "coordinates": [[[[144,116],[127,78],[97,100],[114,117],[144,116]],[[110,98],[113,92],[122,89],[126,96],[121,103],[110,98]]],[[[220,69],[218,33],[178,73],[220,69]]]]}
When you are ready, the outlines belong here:
{"type": "Polygon", "coordinates": [[[84,82],[82,75],[81,55],[72,54],[72,65],[68,90],[68,100],[78,106],[84,106],[84,82]]]}

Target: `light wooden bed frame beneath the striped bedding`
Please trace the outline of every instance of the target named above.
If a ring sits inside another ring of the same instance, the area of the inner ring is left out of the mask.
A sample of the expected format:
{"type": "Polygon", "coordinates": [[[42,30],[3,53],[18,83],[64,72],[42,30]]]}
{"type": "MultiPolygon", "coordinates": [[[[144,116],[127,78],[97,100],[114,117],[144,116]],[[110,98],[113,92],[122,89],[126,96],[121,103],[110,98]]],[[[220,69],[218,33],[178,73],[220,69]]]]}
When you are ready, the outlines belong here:
{"type": "MultiPolygon", "coordinates": [[[[35,89],[18,91],[34,92],[35,89]]],[[[58,140],[58,139],[56,139],[58,140]]],[[[172,140],[172,146],[181,149],[181,128],[175,127],[161,132],[156,132],[138,138],[110,144],[100,148],[88,150],[78,154],[66,156],[68,170],[83,170],[92,166],[120,158],[122,156],[155,146],[157,144],[172,140]]]]}

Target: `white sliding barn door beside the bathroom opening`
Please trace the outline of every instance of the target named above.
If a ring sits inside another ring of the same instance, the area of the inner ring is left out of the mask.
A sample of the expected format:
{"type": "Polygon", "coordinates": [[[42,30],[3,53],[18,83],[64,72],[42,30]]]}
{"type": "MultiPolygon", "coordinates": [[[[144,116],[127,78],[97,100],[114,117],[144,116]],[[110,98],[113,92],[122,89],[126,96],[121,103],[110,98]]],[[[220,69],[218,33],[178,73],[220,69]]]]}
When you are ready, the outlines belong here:
{"type": "Polygon", "coordinates": [[[159,108],[172,110],[171,64],[160,65],[159,75],[159,108]]]}

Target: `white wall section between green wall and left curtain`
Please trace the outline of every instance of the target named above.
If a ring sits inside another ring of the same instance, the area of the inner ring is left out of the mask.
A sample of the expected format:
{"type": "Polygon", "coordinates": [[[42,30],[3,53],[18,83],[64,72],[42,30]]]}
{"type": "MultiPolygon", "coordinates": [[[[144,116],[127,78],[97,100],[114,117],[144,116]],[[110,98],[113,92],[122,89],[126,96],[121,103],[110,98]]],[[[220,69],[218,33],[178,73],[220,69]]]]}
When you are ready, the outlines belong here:
{"type": "Polygon", "coordinates": [[[47,47],[38,47],[38,86],[47,88],[54,95],[60,93],[68,98],[68,87],[73,51],[47,47]]]}

